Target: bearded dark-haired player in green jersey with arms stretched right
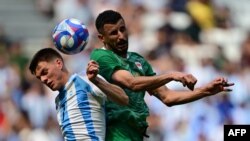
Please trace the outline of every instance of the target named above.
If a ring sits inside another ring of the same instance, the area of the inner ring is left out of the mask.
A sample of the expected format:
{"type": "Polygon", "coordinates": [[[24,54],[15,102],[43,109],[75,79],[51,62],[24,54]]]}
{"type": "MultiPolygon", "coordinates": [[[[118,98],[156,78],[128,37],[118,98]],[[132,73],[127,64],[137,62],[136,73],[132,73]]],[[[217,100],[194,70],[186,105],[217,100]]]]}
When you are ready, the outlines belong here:
{"type": "Polygon", "coordinates": [[[172,72],[156,75],[151,65],[139,54],[128,52],[128,32],[123,17],[113,10],[100,13],[96,19],[98,38],[104,46],[91,53],[99,63],[100,74],[109,82],[121,86],[129,96],[128,106],[113,102],[106,104],[107,141],[142,141],[146,136],[149,115],[144,101],[145,92],[156,96],[165,105],[184,104],[214,95],[233,83],[220,77],[204,87],[193,90],[197,80],[191,74],[172,72]],[[173,91],[165,84],[179,81],[193,91],[173,91]]]}

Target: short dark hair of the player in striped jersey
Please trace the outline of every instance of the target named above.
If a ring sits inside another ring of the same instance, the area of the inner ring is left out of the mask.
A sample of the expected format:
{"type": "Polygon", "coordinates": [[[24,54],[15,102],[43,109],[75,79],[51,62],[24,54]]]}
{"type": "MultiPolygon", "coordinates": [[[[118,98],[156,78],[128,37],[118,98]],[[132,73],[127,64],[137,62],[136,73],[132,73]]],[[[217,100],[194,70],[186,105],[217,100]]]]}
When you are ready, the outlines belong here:
{"type": "Polygon", "coordinates": [[[29,66],[29,70],[32,74],[35,74],[36,67],[39,62],[46,61],[50,62],[55,58],[60,58],[63,61],[62,56],[52,48],[44,48],[39,50],[32,58],[29,66]]]}

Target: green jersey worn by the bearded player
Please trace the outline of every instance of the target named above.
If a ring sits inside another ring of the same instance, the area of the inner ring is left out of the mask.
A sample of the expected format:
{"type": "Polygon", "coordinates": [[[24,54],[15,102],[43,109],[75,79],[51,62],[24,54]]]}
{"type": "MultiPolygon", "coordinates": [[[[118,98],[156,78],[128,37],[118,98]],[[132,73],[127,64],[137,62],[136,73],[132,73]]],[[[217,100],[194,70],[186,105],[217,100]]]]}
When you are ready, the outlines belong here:
{"type": "MultiPolygon", "coordinates": [[[[110,50],[95,49],[91,53],[90,59],[98,62],[100,75],[110,83],[112,83],[112,74],[116,70],[127,70],[133,76],[155,75],[151,65],[134,52],[128,52],[127,58],[122,58],[110,50]]],[[[126,135],[112,139],[108,137],[107,140],[140,140],[136,136],[143,138],[143,132],[148,126],[146,118],[149,115],[149,110],[144,101],[145,91],[135,92],[127,88],[123,89],[129,97],[129,105],[120,106],[112,101],[106,103],[106,135],[110,136],[115,132],[126,135]]]]}

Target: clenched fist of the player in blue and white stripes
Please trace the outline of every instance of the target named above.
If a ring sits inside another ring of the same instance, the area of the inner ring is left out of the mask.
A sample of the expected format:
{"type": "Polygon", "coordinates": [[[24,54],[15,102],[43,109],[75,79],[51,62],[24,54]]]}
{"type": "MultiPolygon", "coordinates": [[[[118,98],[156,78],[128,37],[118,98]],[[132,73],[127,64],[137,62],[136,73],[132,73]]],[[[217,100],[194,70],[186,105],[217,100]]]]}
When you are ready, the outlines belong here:
{"type": "Polygon", "coordinates": [[[90,81],[94,81],[99,72],[99,65],[96,61],[89,61],[86,74],[90,81]]]}

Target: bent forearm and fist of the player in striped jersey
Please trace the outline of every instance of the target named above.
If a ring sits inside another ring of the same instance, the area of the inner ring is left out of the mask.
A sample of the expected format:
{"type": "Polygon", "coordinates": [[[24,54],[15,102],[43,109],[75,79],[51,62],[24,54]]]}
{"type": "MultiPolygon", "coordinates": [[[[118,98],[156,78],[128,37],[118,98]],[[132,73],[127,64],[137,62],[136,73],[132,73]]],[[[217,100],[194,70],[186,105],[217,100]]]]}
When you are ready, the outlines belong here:
{"type": "Polygon", "coordinates": [[[90,61],[87,67],[88,79],[94,83],[103,93],[105,93],[108,99],[120,104],[128,105],[129,99],[125,92],[118,86],[108,83],[97,76],[99,71],[99,65],[95,61],[90,61]]]}

